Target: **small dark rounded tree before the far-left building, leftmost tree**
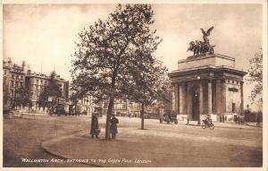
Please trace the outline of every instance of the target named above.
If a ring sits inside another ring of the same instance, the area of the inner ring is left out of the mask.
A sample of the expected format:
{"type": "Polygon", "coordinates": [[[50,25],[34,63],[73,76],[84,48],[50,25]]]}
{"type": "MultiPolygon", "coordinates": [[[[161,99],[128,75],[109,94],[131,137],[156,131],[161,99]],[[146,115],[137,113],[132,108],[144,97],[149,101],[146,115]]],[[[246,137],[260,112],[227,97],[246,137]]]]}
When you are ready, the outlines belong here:
{"type": "Polygon", "coordinates": [[[20,87],[19,89],[15,90],[13,106],[14,107],[29,107],[31,105],[31,100],[29,98],[29,90],[25,87],[20,87]]]}

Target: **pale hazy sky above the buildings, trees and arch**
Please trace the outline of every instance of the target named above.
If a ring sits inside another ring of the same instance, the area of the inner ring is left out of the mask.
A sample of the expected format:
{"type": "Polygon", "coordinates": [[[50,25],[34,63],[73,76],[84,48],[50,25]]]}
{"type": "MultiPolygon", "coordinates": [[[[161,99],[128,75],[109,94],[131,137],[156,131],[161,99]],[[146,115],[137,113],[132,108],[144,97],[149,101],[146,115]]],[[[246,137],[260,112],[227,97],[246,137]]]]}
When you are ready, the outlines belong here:
{"type": "MultiPolygon", "coordinates": [[[[106,20],[116,4],[4,4],[4,59],[25,60],[30,69],[55,69],[71,81],[71,54],[78,32],[97,19],[106,20]]],[[[235,57],[247,72],[248,60],[262,47],[261,4],[152,4],[156,35],[163,38],[155,56],[169,72],[178,69],[191,40],[202,40],[201,28],[214,26],[209,37],[215,53],[235,57]]],[[[246,105],[252,86],[245,81],[246,105]]]]}

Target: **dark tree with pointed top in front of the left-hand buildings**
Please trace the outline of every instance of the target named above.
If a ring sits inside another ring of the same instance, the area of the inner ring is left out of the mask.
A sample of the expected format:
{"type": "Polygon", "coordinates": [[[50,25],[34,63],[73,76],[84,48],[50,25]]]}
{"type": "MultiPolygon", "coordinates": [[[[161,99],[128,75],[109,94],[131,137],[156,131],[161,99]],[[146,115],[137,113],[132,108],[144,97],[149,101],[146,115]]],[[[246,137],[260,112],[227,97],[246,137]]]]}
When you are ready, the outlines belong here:
{"type": "Polygon", "coordinates": [[[48,84],[45,86],[44,90],[39,96],[38,105],[39,107],[55,107],[57,104],[57,99],[61,97],[62,91],[60,88],[60,84],[56,80],[56,73],[53,71],[52,73],[50,73],[48,84]],[[49,102],[48,97],[53,97],[53,101],[49,102]],[[52,106],[52,104],[54,105],[52,106]]]}

